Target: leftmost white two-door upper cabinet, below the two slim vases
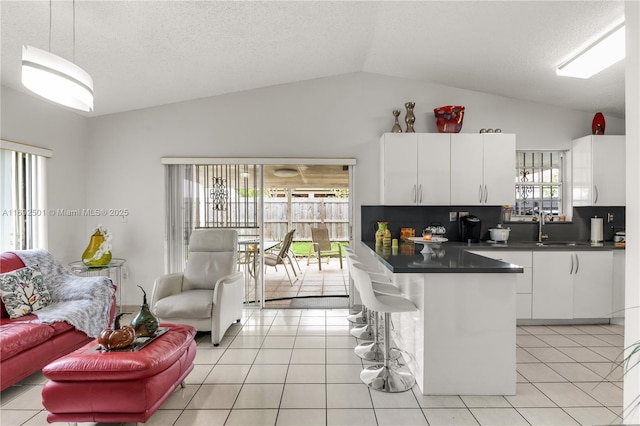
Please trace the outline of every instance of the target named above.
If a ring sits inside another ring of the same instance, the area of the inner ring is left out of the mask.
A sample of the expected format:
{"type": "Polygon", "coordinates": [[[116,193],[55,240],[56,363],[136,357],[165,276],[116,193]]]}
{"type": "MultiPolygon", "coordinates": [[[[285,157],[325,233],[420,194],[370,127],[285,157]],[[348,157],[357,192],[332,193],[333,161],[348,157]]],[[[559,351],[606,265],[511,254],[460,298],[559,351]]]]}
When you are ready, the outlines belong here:
{"type": "Polygon", "coordinates": [[[380,138],[380,202],[450,204],[450,134],[385,133],[380,138]]]}

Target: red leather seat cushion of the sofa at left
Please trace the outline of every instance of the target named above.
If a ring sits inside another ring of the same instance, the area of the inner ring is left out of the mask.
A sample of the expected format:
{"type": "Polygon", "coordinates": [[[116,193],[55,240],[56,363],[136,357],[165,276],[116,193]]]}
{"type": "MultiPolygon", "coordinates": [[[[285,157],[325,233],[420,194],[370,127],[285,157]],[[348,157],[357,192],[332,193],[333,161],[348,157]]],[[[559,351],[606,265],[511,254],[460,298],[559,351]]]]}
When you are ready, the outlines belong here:
{"type": "Polygon", "coordinates": [[[8,359],[32,348],[55,334],[53,327],[26,321],[13,321],[2,325],[0,333],[0,359],[8,359]]]}

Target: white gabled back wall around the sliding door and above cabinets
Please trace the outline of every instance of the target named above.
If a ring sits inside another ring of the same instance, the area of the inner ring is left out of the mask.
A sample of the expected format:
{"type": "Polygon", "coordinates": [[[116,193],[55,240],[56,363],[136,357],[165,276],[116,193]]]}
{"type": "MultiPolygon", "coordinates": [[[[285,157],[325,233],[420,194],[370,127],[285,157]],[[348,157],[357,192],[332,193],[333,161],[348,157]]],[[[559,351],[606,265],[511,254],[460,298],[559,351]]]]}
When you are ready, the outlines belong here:
{"type": "MultiPolygon", "coordinates": [[[[163,156],[355,157],[354,237],[359,208],[378,203],[378,140],[391,129],[394,108],[416,102],[418,132],[436,132],[433,108],[465,105],[463,132],[499,127],[519,148],[566,148],[591,131],[595,113],[356,73],[90,119],[89,205],[128,208],[126,221],[102,220],[114,235],[114,256],[128,262],[125,304],[139,302],[135,284],[150,290],[163,271],[163,156]]],[[[624,120],[607,118],[607,134],[624,120]]],[[[399,147],[402,149],[402,147],[399,147]]]]}

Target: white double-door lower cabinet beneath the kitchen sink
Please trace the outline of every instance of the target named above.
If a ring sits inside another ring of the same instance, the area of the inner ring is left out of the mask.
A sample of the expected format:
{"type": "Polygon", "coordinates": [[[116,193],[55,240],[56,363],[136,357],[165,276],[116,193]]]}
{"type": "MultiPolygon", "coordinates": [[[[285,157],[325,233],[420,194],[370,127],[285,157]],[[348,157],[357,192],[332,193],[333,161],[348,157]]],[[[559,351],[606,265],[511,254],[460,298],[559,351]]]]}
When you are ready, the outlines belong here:
{"type": "Polygon", "coordinates": [[[533,319],[611,318],[611,251],[534,251],[533,319]]]}

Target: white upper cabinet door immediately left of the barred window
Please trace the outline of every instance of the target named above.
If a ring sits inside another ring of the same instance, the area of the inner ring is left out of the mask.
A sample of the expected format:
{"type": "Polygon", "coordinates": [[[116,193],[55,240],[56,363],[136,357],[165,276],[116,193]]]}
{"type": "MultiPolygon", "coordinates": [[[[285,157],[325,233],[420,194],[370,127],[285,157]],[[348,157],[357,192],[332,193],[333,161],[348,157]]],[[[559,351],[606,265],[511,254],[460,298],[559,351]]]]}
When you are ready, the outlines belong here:
{"type": "Polygon", "coordinates": [[[483,133],[484,204],[515,204],[516,137],[505,133],[483,133]]]}

